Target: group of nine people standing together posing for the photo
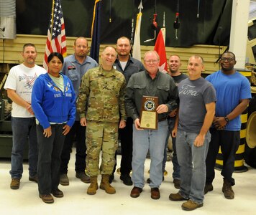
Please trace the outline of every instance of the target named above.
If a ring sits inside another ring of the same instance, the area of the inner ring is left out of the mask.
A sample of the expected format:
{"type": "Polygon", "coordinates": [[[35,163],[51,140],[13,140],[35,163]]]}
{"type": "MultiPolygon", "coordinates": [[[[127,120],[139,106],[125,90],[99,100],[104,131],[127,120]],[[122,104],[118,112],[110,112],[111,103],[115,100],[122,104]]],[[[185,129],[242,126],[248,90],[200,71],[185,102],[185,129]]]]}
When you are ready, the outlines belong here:
{"type": "Polygon", "coordinates": [[[146,52],[142,64],[130,51],[129,39],[120,37],[116,48],[103,49],[98,65],[86,55],[86,38],[78,37],[74,54],[63,59],[52,52],[45,71],[35,65],[35,45],[24,44],[24,62],[12,67],[4,85],[13,101],[12,189],[19,188],[23,149],[29,137],[29,181],[38,183],[45,203],[54,202],[52,195],[63,197],[58,185],[69,185],[68,163],[76,138],[76,178],[90,183],[87,194],[96,194],[98,188],[115,194],[111,182],[120,139],[120,179],[133,185],[130,196],[137,198],[145,186],[149,151],[151,198],[160,199],[171,133],[173,183],[179,191],[169,199],[186,201],[182,209],[188,211],[203,206],[204,194],[213,190],[219,146],[223,153],[222,191],[227,199],[234,199],[232,173],[239,146],[239,116],[251,98],[249,81],[234,70],[234,53],[224,52],[221,70],[204,79],[204,59],[198,55],[188,59],[187,76],[180,71],[178,55],[169,57],[170,73],[166,74],[159,71],[157,52],[146,52]],[[158,98],[155,130],[141,127],[143,96],[158,98]]]}

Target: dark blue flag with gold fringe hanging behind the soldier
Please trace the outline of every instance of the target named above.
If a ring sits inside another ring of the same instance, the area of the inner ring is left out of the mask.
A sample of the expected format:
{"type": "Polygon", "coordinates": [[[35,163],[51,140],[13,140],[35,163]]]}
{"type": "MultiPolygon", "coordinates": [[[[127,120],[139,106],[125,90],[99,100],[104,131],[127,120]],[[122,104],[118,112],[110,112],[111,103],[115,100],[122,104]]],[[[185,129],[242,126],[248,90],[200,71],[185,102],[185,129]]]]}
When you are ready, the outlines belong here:
{"type": "Polygon", "coordinates": [[[91,24],[91,51],[90,57],[99,63],[99,45],[101,29],[101,0],[95,0],[93,9],[93,22],[91,24]]]}

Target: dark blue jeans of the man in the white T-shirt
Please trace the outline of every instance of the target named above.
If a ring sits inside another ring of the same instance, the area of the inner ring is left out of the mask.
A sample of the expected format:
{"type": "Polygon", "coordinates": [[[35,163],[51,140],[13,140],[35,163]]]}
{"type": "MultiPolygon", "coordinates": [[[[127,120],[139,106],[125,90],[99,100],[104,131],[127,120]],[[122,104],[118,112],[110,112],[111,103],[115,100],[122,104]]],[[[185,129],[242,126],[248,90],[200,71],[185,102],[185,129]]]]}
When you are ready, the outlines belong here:
{"type": "Polygon", "coordinates": [[[37,132],[35,129],[35,118],[12,117],[12,178],[22,178],[23,173],[23,151],[24,145],[29,138],[29,176],[37,174],[37,132]]]}

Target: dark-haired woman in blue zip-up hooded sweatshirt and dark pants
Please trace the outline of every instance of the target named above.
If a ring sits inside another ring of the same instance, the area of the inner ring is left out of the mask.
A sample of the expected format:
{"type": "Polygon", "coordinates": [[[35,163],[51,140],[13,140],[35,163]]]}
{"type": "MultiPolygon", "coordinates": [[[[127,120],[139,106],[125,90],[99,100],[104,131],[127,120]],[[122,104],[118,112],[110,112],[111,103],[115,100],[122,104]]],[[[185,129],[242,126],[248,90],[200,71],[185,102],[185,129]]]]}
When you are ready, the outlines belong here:
{"type": "Polygon", "coordinates": [[[63,56],[52,52],[48,59],[48,73],[40,75],[32,90],[32,109],[37,120],[38,190],[45,203],[52,197],[63,197],[60,182],[60,155],[65,135],[76,118],[76,95],[72,82],[63,75],[63,56]],[[52,195],[51,195],[52,194],[52,195]]]}

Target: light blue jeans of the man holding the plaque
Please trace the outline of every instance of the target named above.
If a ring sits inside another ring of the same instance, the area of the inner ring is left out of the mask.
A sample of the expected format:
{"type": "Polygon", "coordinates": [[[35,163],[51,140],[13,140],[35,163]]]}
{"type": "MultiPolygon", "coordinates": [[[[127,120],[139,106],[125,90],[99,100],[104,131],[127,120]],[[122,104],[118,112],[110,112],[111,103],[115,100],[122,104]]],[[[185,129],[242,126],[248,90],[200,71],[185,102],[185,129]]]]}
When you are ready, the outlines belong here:
{"type": "Polygon", "coordinates": [[[133,125],[132,182],[143,188],[147,151],[150,149],[150,187],[158,188],[163,178],[163,151],[168,133],[167,120],[158,123],[157,130],[137,130],[133,125]]]}

